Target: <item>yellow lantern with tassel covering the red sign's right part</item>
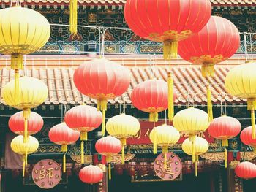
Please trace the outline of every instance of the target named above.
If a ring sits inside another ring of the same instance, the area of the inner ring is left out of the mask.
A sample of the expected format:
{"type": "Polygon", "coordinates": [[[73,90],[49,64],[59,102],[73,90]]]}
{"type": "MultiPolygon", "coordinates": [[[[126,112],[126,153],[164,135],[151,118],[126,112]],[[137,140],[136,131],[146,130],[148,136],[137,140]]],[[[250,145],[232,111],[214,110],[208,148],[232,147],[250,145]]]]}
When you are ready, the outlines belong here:
{"type": "Polygon", "coordinates": [[[203,110],[189,107],[176,113],[173,118],[174,127],[189,137],[192,142],[192,161],[195,162],[195,138],[209,126],[208,115],[203,110]]]}

